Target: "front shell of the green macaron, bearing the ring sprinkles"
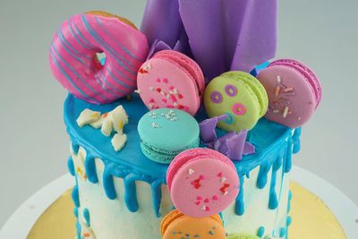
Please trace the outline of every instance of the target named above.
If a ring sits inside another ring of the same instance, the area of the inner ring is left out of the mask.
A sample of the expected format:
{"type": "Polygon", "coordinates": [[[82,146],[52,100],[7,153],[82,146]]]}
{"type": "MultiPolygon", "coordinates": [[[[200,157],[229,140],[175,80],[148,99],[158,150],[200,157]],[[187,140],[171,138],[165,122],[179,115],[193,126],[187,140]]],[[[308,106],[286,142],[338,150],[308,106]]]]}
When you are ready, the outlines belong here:
{"type": "Polygon", "coordinates": [[[204,105],[209,117],[230,115],[231,121],[220,121],[217,126],[226,132],[251,130],[261,115],[260,101],[256,93],[244,81],[227,75],[210,81],[205,90],[204,105]],[[236,94],[229,96],[226,87],[234,87],[236,94]],[[215,99],[218,96],[219,100],[215,99]]]}

